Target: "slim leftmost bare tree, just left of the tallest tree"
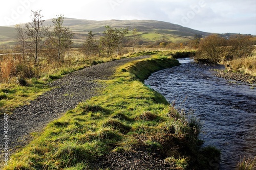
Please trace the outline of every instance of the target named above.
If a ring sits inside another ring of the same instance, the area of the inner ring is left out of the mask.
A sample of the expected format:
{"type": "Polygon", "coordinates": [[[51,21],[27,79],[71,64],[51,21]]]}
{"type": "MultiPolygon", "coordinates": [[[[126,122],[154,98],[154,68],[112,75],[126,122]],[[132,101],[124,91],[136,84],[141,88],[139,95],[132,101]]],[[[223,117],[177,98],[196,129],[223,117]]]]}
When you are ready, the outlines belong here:
{"type": "Polygon", "coordinates": [[[15,25],[15,29],[17,31],[17,48],[19,52],[22,52],[22,58],[25,59],[25,52],[27,46],[28,35],[25,32],[25,26],[23,25],[15,25]]]}

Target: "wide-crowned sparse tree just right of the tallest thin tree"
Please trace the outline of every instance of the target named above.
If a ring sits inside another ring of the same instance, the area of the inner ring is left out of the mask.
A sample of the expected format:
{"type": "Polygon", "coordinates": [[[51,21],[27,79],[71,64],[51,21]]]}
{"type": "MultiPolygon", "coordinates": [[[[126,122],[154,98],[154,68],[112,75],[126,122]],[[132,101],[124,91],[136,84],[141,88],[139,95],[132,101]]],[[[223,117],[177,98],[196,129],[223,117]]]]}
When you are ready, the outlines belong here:
{"type": "Polygon", "coordinates": [[[53,30],[51,32],[47,31],[48,43],[53,49],[57,50],[58,60],[71,47],[73,39],[73,33],[70,28],[62,26],[64,19],[61,14],[52,19],[53,30]]]}

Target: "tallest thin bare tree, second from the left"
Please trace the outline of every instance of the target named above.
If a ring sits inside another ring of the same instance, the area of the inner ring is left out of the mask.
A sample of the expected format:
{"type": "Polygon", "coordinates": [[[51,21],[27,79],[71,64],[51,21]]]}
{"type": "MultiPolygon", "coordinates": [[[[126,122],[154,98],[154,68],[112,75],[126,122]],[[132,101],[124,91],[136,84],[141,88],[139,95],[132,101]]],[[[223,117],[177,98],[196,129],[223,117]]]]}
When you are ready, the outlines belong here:
{"type": "Polygon", "coordinates": [[[32,22],[26,23],[26,34],[28,35],[30,41],[28,43],[29,47],[35,53],[34,65],[37,64],[38,53],[42,47],[42,38],[44,37],[44,26],[43,23],[45,20],[42,20],[42,15],[39,11],[31,11],[32,22]]]}

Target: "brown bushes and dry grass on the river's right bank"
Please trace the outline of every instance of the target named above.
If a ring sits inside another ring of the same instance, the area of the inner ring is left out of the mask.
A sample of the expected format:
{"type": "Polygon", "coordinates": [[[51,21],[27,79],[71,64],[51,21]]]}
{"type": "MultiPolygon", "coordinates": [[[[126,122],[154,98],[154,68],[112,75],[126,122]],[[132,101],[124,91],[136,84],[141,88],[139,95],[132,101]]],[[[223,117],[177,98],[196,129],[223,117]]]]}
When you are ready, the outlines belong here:
{"type": "Polygon", "coordinates": [[[256,76],[256,48],[249,36],[234,35],[225,39],[210,35],[201,40],[195,60],[224,64],[227,71],[256,76]]]}

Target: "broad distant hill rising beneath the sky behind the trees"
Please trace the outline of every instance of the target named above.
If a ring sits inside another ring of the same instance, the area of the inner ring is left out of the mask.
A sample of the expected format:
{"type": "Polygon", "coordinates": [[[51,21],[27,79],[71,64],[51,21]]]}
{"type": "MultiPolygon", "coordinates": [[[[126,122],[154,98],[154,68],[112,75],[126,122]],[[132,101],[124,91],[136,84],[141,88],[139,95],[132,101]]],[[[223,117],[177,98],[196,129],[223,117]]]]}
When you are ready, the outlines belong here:
{"type": "MultiPolygon", "coordinates": [[[[45,21],[45,25],[52,25],[52,20],[45,21]]],[[[75,33],[74,42],[79,44],[86,38],[88,31],[96,33],[96,38],[101,36],[105,30],[105,26],[116,28],[128,28],[130,30],[137,29],[141,38],[148,41],[165,39],[172,42],[184,42],[194,37],[195,34],[203,36],[210,33],[193,30],[190,28],[175,25],[169,22],[156,20],[86,20],[66,18],[63,26],[70,27],[75,33]]],[[[12,44],[15,41],[16,31],[14,27],[0,27],[0,45],[4,42],[12,44]]]]}

